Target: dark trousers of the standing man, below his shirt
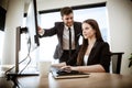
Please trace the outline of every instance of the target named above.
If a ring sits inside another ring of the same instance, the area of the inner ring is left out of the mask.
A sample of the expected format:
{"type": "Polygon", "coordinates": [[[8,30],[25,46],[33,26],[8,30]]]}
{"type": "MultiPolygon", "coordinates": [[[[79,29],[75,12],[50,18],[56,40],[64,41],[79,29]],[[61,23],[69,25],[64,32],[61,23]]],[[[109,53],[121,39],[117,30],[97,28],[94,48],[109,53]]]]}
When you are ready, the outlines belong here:
{"type": "MultiPolygon", "coordinates": [[[[75,53],[75,50],[72,50],[72,56],[74,55],[75,53]]],[[[70,56],[70,57],[72,57],[70,56]]],[[[65,51],[63,52],[63,55],[61,56],[59,58],[59,63],[63,63],[63,62],[68,62],[70,58],[69,58],[69,51],[65,51]]]]}

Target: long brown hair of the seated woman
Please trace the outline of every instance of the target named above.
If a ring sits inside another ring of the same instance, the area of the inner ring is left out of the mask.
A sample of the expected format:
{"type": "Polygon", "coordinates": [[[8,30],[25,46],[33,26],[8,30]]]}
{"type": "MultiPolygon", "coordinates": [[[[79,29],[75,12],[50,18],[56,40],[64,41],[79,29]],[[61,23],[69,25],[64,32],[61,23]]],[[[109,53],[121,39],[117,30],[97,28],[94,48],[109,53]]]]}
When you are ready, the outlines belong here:
{"type": "MultiPolygon", "coordinates": [[[[103,42],[100,30],[99,30],[99,25],[96,20],[88,19],[88,20],[85,20],[82,23],[89,24],[96,31],[97,41],[103,42]]],[[[88,47],[88,40],[82,38],[82,45],[81,45],[79,54],[77,56],[77,65],[84,64],[82,59],[84,59],[85,53],[87,51],[87,47],[88,47]]]]}

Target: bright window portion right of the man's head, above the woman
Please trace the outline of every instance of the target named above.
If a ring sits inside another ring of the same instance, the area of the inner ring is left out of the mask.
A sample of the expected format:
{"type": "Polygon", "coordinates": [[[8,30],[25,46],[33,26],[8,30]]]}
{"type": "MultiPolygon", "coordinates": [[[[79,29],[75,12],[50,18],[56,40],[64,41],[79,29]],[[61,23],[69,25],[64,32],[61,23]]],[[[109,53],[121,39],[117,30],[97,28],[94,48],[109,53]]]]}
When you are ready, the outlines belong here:
{"type": "Polygon", "coordinates": [[[75,10],[74,14],[75,14],[75,21],[79,21],[79,22],[82,22],[86,19],[95,19],[99,24],[103,40],[109,42],[106,7],[75,10]]]}

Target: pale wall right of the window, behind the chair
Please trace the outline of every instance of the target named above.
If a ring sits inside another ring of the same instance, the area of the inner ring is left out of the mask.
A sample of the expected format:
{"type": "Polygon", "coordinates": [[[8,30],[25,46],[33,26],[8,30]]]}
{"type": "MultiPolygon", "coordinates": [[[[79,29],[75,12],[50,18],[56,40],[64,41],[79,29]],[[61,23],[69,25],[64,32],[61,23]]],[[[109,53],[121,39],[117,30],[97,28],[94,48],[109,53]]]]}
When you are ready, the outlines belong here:
{"type": "Polygon", "coordinates": [[[130,68],[128,68],[128,58],[130,53],[132,53],[132,1],[109,0],[107,7],[111,36],[111,51],[124,52],[121,74],[132,74],[130,68]]]}

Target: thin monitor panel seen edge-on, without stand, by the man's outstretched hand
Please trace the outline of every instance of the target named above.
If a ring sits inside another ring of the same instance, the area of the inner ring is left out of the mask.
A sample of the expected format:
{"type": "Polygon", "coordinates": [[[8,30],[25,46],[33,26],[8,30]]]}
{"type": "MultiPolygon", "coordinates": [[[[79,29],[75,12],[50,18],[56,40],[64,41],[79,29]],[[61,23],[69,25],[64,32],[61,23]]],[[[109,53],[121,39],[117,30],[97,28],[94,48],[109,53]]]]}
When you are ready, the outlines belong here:
{"type": "Polygon", "coordinates": [[[29,33],[29,41],[31,44],[31,51],[34,51],[38,45],[38,34],[37,34],[37,9],[36,0],[31,0],[28,16],[26,16],[26,28],[29,33]]]}

